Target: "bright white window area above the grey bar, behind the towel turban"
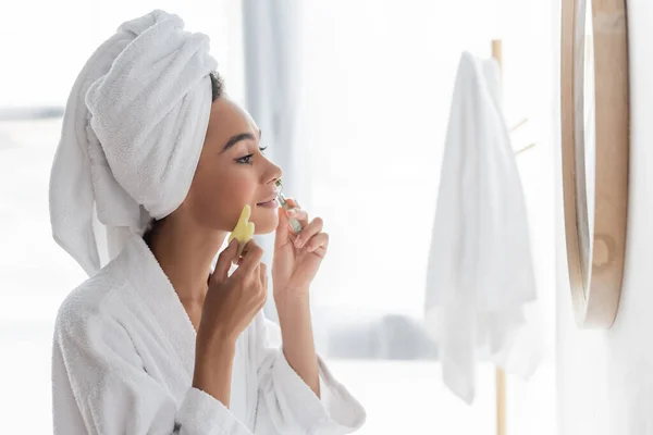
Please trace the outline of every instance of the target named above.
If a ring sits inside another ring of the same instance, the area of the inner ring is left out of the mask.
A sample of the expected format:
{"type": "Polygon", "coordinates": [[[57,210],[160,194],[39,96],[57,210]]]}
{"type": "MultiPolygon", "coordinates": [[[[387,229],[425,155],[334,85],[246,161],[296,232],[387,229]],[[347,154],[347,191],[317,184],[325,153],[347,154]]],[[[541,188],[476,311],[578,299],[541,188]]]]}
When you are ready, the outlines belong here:
{"type": "Polygon", "coordinates": [[[220,74],[241,101],[239,0],[22,0],[0,1],[0,107],[63,107],[93,51],[120,24],[152,9],[180,14],[187,30],[211,38],[220,74]]]}

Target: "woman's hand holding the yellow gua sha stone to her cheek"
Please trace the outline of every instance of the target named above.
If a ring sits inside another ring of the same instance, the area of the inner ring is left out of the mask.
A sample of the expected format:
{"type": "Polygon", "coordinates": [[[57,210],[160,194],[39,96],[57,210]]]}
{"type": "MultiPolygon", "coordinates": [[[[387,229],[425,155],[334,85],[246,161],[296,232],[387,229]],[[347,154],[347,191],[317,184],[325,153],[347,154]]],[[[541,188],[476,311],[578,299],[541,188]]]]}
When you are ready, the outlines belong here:
{"type": "Polygon", "coordinates": [[[266,303],[268,274],[266,264],[260,262],[263,250],[254,239],[249,240],[243,250],[238,269],[227,276],[237,253],[238,241],[234,239],[220,253],[215,270],[209,278],[209,289],[197,331],[197,339],[202,340],[201,344],[215,340],[235,343],[266,303]]]}

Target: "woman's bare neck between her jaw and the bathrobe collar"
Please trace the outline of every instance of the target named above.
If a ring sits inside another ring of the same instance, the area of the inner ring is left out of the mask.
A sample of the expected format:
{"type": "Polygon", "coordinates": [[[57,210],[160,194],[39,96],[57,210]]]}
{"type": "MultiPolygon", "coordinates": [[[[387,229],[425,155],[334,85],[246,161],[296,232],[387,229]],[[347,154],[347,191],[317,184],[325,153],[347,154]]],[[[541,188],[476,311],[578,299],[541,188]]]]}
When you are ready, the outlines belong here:
{"type": "Polygon", "coordinates": [[[225,236],[172,219],[158,222],[148,235],[146,243],[184,307],[204,304],[211,262],[225,236]]]}

